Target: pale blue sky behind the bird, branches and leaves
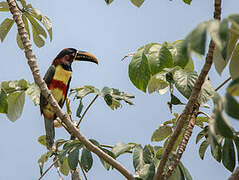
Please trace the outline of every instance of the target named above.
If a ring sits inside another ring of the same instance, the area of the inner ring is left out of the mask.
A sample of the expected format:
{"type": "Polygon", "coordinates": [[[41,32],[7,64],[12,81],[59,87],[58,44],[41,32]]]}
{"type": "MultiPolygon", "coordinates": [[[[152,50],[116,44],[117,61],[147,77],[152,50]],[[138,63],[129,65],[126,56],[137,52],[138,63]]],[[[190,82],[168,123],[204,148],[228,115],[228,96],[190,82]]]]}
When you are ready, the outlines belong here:
{"type": "MultiPolygon", "coordinates": [[[[47,39],[46,45],[41,49],[33,46],[42,75],[61,49],[74,47],[93,53],[99,60],[99,66],[75,63],[71,87],[90,84],[101,89],[109,86],[136,96],[135,106],[123,104],[116,111],[112,111],[102,99],[98,99],[81,124],[82,133],[102,144],[150,143],[151,135],[158,125],[172,118],[167,107],[169,95],[149,95],[136,89],[128,77],[129,60],[120,60],[125,54],[146,43],[172,42],[184,38],[197,24],[211,19],[213,1],[193,0],[192,5],[188,6],[181,0],[146,0],[141,8],[136,8],[129,0],[115,0],[110,6],[104,0],[28,2],[32,2],[34,7],[39,8],[53,22],[53,41],[50,43],[47,39]]],[[[238,13],[238,7],[237,0],[223,1],[223,17],[238,13]]],[[[0,20],[5,17],[11,16],[1,12],[0,20]]],[[[25,78],[32,82],[24,53],[18,49],[15,39],[16,26],[0,44],[0,81],[25,78]]],[[[201,67],[202,63],[203,60],[197,60],[197,67],[201,67]]],[[[219,77],[213,68],[210,77],[215,87],[228,75],[224,73],[219,77]]],[[[88,101],[91,98],[93,96],[88,101]]],[[[87,100],[84,102],[87,103],[87,100]]],[[[73,109],[76,107],[77,102],[74,102],[73,109]]],[[[37,142],[37,138],[44,134],[39,107],[33,106],[26,97],[24,111],[19,120],[12,123],[2,114],[0,118],[0,180],[39,178],[37,160],[46,152],[37,142]]],[[[205,160],[199,158],[199,146],[195,145],[197,132],[198,128],[195,128],[182,159],[184,165],[195,180],[226,179],[230,172],[211,158],[209,150],[205,160]]],[[[56,134],[57,138],[69,138],[64,129],[57,129],[56,134]]],[[[133,172],[131,155],[123,155],[119,160],[133,172]]],[[[44,179],[57,178],[56,171],[52,169],[44,179]]],[[[121,180],[124,177],[115,170],[107,172],[98,158],[95,158],[88,179],[121,180]]]]}

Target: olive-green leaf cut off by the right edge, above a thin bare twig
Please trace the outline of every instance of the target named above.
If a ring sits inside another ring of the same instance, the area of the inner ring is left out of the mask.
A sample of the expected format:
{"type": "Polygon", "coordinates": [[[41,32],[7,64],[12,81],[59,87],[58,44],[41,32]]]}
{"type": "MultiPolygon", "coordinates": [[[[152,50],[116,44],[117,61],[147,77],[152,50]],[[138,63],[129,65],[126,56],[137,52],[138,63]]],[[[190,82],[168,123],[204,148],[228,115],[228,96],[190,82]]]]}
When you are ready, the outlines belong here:
{"type": "Polygon", "coordinates": [[[239,78],[239,43],[237,43],[234,52],[232,54],[232,59],[229,65],[229,71],[232,79],[237,79],[239,78]]]}

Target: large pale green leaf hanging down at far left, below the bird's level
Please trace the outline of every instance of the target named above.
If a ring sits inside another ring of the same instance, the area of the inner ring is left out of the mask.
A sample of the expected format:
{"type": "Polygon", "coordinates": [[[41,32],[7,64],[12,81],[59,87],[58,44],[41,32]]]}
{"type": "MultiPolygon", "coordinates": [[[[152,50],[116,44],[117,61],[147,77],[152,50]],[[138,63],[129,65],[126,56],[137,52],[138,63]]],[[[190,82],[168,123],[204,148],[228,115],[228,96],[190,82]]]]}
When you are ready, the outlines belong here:
{"type": "Polygon", "coordinates": [[[20,118],[25,103],[25,92],[14,92],[8,95],[8,113],[10,121],[15,122],[20,118]]]}

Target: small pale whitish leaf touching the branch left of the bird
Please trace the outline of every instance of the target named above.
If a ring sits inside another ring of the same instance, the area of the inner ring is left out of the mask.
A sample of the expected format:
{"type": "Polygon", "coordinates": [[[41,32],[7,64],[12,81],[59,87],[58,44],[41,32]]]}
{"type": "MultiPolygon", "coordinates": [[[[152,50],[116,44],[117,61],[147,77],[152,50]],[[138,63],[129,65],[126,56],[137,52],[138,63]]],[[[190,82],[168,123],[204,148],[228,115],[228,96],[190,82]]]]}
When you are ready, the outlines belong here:
{"type": "Polygon", "coordinates": [[[40,104],[40,93],[41,91],[35,83],[30,84],[26,90],[26,94],[30,97],[34,105],[40,104]]]}

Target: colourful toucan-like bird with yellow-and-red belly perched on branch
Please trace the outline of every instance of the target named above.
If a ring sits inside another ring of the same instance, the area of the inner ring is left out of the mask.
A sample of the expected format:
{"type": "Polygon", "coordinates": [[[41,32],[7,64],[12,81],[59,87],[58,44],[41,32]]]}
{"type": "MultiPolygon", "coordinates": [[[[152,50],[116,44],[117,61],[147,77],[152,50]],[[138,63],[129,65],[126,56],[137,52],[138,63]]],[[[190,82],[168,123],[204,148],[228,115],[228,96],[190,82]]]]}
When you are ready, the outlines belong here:
{"type": "MultiPolygon", "coordinates": [[[[61,108],[69,90],[72,75],[71,64],[74,61],[89,61],[98,64],[97,58],[86,51],[65,48],[55,57],[43,78],[61,108]]],[[[54,144],[54,120],[57,116],[42,94],[40,94],[40,111],[45,121],[46,147],[50,150],[54,144]]]]}

